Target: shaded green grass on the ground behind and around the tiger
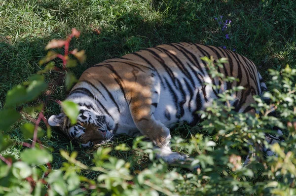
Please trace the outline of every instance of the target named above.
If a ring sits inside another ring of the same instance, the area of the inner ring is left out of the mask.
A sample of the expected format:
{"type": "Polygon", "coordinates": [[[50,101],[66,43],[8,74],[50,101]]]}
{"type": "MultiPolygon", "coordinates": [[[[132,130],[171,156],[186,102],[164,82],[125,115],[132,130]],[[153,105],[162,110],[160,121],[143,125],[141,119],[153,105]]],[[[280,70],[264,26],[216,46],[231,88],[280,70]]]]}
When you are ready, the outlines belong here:
{"type": "MultiPolygon", "coordinates": [[[[77,78],[103,60],[180,41],[235,49],[255,62],[265,80],[269,79],[269,68],[279,70],[287,63],[296,68],[296,2],[292,0],[0,0],[0,5],[0,109],[9,89],[41,69],[38,61],[46,54],[48,41],[66,38],[72,28],[81,31],[72,47],[86,50],[87,55],[86,63],[72,70],[77,78]],[[215,20],[220,16],[222,20],[215,20]],[[218,22],[225,20],[232,22],[222,31],[223,25],[218,22]],[[101,33],[98,35],[95,29],[101,33]],[[230,39],[225,39],[225,34],[230,39]]],[[[67,96],[63,77],[56,72],[46,74],[49,96],[37,100],[46,104],[46,117],[58,114],[55,100],[67,96]]],[[[28,121],[25,116],[11,129],[14,140],[23,140],[19,126],[24,121],[28,121]]],[[[132,143],[122,136],[106,146],[122,140],[132,143]]],[[[54,168],[65,161],[59,149],[79,151],[79,159],[92,164],[90,152],[94,149],[81,151],[58,131],[51,139],[44,137],[42,143],[53,149],[54,168]]],[[[20,150],[14,146],[6,153],[17,157],[20,150]]],[[[137,153],[116,156],[127,159],[137,157],[137,153]]],[[[133,169],[145,167],[146,159],[133,169]]]]}

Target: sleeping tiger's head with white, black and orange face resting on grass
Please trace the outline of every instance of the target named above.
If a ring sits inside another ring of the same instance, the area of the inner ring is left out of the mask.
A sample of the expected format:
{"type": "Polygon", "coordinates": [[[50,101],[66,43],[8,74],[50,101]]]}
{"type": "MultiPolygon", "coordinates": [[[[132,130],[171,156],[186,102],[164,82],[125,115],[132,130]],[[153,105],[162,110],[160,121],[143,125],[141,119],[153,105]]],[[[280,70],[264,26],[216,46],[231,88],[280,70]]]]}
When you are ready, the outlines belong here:
{"type": "Polygon", "coordinates": [[[51,116],[48,118],[48,124],[58,126],[63,133],[71,139],[78,140],[83,147],[91,147],[109,140],[113,135],[113,125],[106,120],[106,116],[85,108],[80,108],[77,122],[74,125],[71,125],[71,120],[65,113],[51,116]]]}

